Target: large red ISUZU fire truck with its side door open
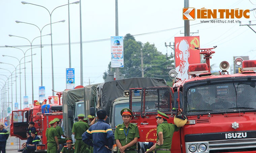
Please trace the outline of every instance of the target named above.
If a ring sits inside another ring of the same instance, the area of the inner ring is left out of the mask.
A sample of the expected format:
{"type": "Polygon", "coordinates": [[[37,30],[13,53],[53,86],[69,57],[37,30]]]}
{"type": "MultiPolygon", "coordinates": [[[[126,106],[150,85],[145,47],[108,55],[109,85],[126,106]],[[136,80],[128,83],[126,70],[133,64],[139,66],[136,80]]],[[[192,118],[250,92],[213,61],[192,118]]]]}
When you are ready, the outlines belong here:
{"type": "Polygon", "coordinates": [[[237,74],[229,74],[228,62],[221,62],[220,75],[212,75],[209,60],[214,48],[197,48],[206,64],[189,65],[189,79],[181,80],[171,70],[172,87],[130,89],[132,122],[138,125],[140,142],[156,142],[157,110],[173,123],[182,109],[188,121],[174,132],[171,153],[256,152],[256,60],[237,58],[237,74]]]}

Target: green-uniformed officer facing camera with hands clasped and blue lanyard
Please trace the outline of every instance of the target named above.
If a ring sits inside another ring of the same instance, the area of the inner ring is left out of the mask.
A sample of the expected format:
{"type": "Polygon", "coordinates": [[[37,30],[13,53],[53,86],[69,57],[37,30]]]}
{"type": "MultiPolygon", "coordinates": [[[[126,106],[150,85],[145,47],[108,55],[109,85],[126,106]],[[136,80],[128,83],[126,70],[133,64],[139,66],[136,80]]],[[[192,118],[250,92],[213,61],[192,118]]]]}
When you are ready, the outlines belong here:
{"type": "Polygon", "coordinates": [[[139,138],[137,125],[131,124],[132,111],[128,108],[121,110],[123,124],[116,126],[115,140],[118,147],[118,153],[136,153],[136,143],[139,138]]]}

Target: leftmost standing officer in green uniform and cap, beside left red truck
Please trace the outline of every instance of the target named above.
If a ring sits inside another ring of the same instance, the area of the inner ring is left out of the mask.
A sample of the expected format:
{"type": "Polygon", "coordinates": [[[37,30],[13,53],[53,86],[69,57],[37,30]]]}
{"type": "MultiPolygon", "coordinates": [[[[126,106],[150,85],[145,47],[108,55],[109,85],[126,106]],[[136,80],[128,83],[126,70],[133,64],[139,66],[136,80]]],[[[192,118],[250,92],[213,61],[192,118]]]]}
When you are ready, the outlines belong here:
{"type": "Polygon", "coordinates": [[[51,127],[46,129],[46,138],[47,138],[47,153],[56,153],[59,150],[59,142],[57,138],[57,121],[54,119],[49,122],[51,127]]]}

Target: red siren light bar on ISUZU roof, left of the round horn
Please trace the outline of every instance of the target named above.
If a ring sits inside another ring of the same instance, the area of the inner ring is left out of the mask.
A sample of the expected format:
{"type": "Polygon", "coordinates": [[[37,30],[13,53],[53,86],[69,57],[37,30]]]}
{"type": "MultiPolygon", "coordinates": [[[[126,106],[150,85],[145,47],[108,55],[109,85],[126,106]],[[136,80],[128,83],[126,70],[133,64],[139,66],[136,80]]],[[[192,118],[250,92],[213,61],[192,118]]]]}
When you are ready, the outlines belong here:
{"type": "Polygon", "coordinates": [[[208,66],[206,63],[200,63],[200,64],[190,64],[188,66],[188,75],[195,75],[195,74],[201,74],[201,73],[207,73],[208,66]]]}

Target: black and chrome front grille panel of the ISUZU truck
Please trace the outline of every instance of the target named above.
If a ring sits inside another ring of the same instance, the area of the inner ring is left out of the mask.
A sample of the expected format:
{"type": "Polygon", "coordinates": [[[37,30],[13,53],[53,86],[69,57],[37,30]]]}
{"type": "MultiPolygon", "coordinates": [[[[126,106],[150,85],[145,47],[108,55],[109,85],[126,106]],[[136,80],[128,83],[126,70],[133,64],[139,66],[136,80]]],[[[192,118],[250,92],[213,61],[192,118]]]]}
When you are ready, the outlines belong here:
{"type": "MultiPolygon", "coordinates": [[[[256,151],[256,131],[237,131],[243,138],[226,138],[230,133],[204,133],[185,135],[186,149],[190,145],[197,147],[204,144],[207,148],[205,153],[226,153],[226,152],[243,152],[256,151]]],[[[233,136],[237,136],[232,133],[233,136]]],[[[188,153],[191,153],[188,151],[188,153]]]]}

